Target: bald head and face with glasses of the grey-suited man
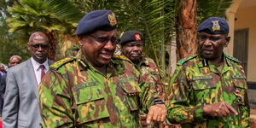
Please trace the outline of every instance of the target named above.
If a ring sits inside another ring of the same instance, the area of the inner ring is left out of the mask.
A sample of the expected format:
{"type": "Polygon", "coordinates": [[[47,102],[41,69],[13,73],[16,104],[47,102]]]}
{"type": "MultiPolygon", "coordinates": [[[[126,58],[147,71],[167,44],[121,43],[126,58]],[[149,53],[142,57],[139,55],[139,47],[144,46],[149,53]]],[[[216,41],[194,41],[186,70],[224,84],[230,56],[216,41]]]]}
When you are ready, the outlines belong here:
{"type": "Polygon", "coordinates": [[[49,51],[49,39],[46,36],[37,35],[27,45],[35,61],[41,64],[46,61],[49,51]]]}

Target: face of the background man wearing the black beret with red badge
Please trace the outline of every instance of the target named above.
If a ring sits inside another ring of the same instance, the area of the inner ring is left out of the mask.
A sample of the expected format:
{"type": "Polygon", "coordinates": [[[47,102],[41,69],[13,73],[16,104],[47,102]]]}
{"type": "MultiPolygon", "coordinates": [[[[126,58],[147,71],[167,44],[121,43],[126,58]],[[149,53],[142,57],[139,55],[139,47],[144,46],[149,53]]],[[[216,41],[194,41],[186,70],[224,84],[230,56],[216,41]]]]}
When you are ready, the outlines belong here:
{"type": "Polygon", "coordinates": [[[137,63],[142,58],[143,54],[143,43],[126,43],[122,46],[122,53],[132,62],[137,63]]]}

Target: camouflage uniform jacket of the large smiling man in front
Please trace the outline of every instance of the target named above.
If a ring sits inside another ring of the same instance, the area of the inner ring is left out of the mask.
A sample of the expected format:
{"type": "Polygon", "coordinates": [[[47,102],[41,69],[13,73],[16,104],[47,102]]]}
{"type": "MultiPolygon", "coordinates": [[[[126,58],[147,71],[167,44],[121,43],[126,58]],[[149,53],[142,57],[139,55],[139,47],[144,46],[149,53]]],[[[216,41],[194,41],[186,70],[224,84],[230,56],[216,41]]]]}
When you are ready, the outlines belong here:
{"type": "Polygon", "coordinates": [[[154,84],[122,57],[113,57],[104,76],[81,56],[57,61],[39,85],[43,126],[140,127],[138,110],[148,113],[159,100],[154,84]]]}

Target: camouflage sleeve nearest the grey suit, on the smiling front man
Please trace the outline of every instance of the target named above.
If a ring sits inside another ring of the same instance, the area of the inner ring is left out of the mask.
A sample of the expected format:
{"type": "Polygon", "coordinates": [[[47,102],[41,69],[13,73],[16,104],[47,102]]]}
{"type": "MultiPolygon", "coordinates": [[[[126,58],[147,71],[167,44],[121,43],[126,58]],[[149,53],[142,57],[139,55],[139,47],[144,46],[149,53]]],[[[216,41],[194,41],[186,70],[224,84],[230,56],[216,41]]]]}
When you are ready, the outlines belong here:
{"type": "Polygon", "coordinates": [[[49,71],[38,89],[43,127],[73,127],[72,98],[61,74],[49,71]]]}

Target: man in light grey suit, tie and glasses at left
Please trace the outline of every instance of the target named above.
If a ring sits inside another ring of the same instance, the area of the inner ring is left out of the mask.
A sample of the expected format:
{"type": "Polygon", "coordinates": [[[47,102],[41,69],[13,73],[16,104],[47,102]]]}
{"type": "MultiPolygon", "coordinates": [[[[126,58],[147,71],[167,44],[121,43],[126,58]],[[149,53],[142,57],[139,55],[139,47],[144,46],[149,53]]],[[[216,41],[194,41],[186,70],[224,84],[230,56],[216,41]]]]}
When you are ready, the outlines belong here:
{"type": "Polygon", "coordinates": [[[47,59],[49,38],[43,32],[34,32],[27,44],[32,57],[9,68],[3,104],[4,128],[39,128],[38,84],[53,61],[47,59]]]}

